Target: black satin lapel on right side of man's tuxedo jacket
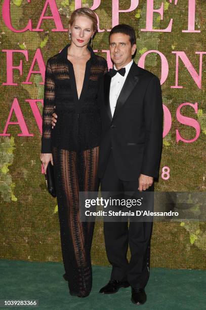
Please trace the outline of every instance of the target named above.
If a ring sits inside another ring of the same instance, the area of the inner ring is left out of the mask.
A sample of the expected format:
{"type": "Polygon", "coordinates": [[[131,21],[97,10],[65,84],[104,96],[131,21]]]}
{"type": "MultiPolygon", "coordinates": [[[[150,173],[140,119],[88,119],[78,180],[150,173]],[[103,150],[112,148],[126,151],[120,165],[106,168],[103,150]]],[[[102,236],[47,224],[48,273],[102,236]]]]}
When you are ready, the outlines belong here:
{"type": "MultiPolygon", "coordinates": [[[[126,78],[126,81],[120,91],[120,94],[118,96],[117,102],[116,102],[116,107],[113,115],[113,119],[116,117],[118,114],[119,110],[121,107],[125,104],[127,101],[128,97],[132,93],[133,89],[139,82],[139,75],[142,74],[142,69],[136,65],[135,62],[133,62],[130,71],[128,73],[128,76],[126,78]]],[[[111,111],[110,111],[111,112],[111,111]]]]}

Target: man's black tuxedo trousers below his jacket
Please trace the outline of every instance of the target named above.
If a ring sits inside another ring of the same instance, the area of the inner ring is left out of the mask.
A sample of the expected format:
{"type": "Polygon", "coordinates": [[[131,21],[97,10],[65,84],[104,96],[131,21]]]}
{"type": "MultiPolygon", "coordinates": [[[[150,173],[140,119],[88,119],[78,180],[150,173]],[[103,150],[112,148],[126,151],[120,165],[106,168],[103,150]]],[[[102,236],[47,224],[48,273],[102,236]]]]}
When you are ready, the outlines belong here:
{"type": "MultiPolygon", "coordinates": [[[[111,150],[107,167],[101,179],[101,191],[138,191],[138,181],[118,178],[111,150]]],[[[148,188],[153,191],[154,185],[148,188]]],[[[128,281],[133,288],[144,288],[149,279],[150,240],[153,222],[104,221],[104,238],[107,258],[112,265],[111,280],[128,281]],[[127,252],[130,246],[131,259],[127,252]]]]}

